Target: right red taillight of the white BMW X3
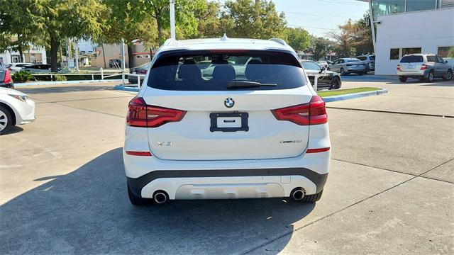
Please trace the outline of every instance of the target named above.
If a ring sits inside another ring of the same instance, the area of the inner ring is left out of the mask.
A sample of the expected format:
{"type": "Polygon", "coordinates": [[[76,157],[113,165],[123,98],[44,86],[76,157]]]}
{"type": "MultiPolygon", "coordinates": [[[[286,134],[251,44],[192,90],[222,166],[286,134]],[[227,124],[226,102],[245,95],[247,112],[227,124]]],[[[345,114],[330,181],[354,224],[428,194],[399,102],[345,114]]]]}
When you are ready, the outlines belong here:
{"type": "Polygon", "coordinates": [[[320,96],[312,96],[309,103],[271,111],[277,120],[287,120],[298,125],[319,125],[328,122],[325,102],[320,96]]]}

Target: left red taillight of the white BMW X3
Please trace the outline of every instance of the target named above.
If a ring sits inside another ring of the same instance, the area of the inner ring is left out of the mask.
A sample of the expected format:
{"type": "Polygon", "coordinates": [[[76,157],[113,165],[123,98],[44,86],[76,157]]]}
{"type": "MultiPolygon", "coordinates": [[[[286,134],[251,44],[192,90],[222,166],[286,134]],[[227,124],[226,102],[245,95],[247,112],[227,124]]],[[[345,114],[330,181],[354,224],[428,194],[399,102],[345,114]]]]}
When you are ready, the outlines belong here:
{"type": "Polygon", "coordinates": [[[157,128],[165,123],[182,120],[186,111],[148,106],[143,98],[135,97],[128,105],[126,125],[139,128],[157,128]]]}

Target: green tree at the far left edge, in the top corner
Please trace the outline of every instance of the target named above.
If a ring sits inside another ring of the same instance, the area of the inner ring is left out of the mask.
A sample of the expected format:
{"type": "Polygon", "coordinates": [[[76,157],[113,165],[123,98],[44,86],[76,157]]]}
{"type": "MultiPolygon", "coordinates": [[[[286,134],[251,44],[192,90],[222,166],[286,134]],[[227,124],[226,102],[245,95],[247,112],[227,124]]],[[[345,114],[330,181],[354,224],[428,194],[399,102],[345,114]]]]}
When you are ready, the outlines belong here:
{"type": "Polygon", "coordinates": [[[0,52],[18,51],[20,62],[23,52],[30,48],[31,42],[43,45],[39,24],[31,12],[33,1],[0,1],[0,52]]]}

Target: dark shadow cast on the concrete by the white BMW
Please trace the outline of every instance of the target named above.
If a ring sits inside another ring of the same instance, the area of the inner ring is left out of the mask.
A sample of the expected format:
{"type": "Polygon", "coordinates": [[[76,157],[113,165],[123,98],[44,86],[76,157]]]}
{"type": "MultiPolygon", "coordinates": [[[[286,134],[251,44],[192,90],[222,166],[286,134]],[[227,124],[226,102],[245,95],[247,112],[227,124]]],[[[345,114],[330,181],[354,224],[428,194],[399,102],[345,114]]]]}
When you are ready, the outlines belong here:
{"type": "Polygon", "coordinates": [[[48,177],[56,179],[0,206],[2,253],[238,254],[291,233],[292,223],[314,209],[282,199],[134,207],[121,148],[70,174],[48,177]]]}

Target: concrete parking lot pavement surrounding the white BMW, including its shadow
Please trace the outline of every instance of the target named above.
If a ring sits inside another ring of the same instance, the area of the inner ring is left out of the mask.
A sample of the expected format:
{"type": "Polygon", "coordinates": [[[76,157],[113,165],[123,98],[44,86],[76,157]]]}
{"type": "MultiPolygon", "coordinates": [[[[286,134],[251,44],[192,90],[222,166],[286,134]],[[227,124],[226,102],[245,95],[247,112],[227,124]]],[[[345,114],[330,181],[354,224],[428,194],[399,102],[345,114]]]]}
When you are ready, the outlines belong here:
{"type": "Polygon", "coordinates": [[[0,137],[1,254],[453,254],[454,82],[350,79],[389,94],[328,103],[331,173],[315,204],[133,207],[121,147],[133,94],[27,86],[37,120],[0,137]]]}

